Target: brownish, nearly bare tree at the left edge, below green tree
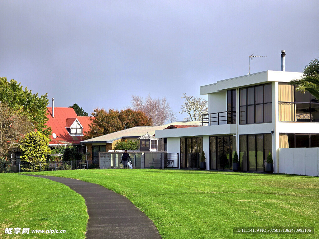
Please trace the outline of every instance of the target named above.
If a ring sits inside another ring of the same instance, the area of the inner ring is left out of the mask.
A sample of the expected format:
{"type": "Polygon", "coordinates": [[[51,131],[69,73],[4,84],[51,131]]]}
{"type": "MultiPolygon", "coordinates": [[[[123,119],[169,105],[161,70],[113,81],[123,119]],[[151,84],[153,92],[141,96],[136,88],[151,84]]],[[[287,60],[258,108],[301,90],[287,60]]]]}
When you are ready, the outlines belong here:
{"type": "Polygon", "coordinates": [[[32,130],[32,123],[25,115],[0,102],[0,163],[9,152],[18,151],[24,135],[32,130]]]}

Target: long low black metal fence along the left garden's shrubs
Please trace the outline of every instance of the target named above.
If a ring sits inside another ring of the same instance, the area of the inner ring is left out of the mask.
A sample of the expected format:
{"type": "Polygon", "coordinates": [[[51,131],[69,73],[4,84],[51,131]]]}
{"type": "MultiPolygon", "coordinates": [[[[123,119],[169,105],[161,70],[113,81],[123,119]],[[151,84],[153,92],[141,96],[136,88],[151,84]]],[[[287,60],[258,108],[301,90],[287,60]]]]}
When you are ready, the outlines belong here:
{"type": "Polygon", "coordinates": [[[0,173],[41,172],[56,170],[98,169],[99,163],[93,161],[51,161],[41,163],[39,161],[16,162],[6,161],[0,163],[0,173]]]}

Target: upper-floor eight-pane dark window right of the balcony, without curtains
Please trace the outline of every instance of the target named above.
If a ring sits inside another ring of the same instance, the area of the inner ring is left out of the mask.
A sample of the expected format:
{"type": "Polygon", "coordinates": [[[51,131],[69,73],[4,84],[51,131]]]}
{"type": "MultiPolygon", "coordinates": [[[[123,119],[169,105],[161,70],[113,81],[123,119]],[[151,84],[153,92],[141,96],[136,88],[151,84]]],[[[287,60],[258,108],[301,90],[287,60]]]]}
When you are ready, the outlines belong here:
{"type": "Polygon", "coordinates": [[[240,89],[240,124],[271,122],[271,83],[240,89]]]}

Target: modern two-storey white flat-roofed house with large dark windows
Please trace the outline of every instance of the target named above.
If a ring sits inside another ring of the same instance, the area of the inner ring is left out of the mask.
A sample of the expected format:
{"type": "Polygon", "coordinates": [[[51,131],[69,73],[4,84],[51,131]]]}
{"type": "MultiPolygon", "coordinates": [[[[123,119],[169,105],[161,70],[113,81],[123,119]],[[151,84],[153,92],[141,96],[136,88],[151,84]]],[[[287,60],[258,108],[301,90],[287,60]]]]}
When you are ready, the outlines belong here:
{"type": "Polygon", "coordinates": [[[167,138],[168,153],[180,153],[181,168],[199,168],[204,150],[206,170],[232,170],[237,151],[241,171],[264,172],[271,152],[274,173],[318,176],[319,102],[287,84],[300,76],[268,70],[201,86],[208,126],[157,130],[155,137],[167,138]]]}

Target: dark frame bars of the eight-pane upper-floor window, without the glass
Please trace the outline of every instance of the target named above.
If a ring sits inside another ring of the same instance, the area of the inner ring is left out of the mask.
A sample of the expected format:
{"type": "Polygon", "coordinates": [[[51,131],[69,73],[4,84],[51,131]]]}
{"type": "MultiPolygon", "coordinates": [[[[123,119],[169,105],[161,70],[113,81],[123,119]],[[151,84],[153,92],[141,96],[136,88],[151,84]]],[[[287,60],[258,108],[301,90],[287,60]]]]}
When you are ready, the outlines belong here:
{"type": "MultiPolygon", "coordinates": [[[[263,123],[271,123],[272,122],[272,115],[271,115],[271,121],[265,121],[265,116],[264,116],[264,111],[265,111],[265,104],[272,104],[272,100],[270,102],[265,102],[265,85],[271,85],[272,83],[266,83],[266,84],[261,84],[261,85],[254,85],[254,86],[249,86],[249,87],[243,87],[239,89],[239,94],[241,92],[241,90],[246,90],[246,105],[241,105],[241,102],[239,101],[239,109],[241,107],[246,107],[246,116],[245,116],[245,123],[241,123],[241,112],[239,112],[239,124],[240,125],[249,125],[249,124],[263,124],[263,123]],[[262,103],[256,103],[256,87],[260,87],[263,86],[263,102],[262,103]],[[249,88],[254,88],[254,104],[248,104],[248,89],[249,88]],[[263,120],[262,122],[257,122],[256,123],[256,105],[263,105],[263,120]],[[248,106],[254,106],[254,123],[247,123],[248,120],[248,106]]],[[[241,96],[239,95],[239,99],[241,98],[241,96]]],[[[271,87],[271,99],[272,99],[272,87],[271,87]]]]}

